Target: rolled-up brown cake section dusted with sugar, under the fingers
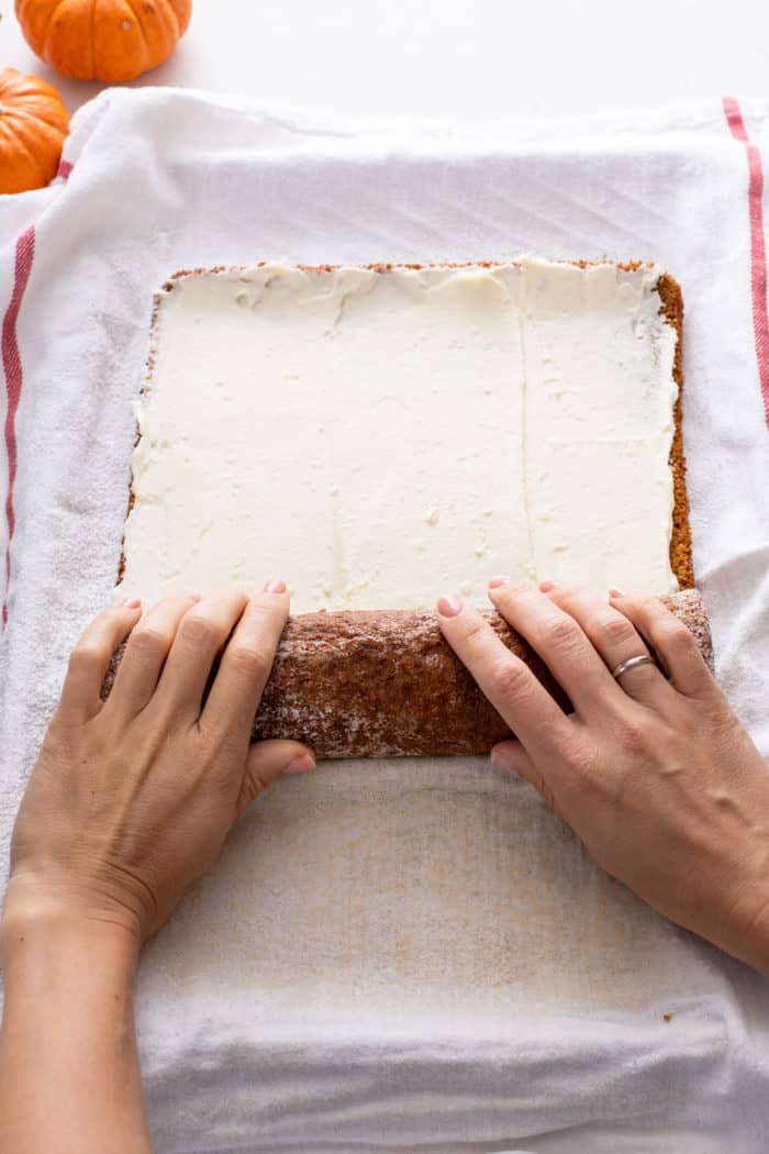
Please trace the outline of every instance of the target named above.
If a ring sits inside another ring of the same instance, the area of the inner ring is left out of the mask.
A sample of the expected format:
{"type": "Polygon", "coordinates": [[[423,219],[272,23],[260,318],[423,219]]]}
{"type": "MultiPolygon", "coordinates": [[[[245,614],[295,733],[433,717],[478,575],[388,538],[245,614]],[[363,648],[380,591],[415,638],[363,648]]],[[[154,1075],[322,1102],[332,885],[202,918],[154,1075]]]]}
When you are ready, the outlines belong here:
{"type": "MultiPolygon", "coordinates": [[[[662,601],[713,667],[710,629],[696,590],[662,601]]],[[[507,649],[564,710],[550,670],[497,613],[484,613],[507,649]]],[[[103,696],[112,689],[116,654],[103,696]]],[[[252,741],[292,737],[322,758],[485,755],[512,736],[444,640],[433,613],[408,609],[307,613],[282,634],[254,720],[252,741]]]]}

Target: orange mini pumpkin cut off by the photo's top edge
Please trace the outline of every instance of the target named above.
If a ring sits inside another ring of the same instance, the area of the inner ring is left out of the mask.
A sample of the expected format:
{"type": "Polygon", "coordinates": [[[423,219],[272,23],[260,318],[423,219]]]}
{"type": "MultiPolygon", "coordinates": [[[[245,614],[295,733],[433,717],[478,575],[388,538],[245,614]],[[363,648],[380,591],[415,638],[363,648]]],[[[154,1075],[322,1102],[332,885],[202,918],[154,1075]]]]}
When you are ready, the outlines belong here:
{"type": "Polygon", "coordinates": [[[38,57],[63,76],[110,84],[166,60],[191,12],[193,0],[16,0],[38,57]]]}

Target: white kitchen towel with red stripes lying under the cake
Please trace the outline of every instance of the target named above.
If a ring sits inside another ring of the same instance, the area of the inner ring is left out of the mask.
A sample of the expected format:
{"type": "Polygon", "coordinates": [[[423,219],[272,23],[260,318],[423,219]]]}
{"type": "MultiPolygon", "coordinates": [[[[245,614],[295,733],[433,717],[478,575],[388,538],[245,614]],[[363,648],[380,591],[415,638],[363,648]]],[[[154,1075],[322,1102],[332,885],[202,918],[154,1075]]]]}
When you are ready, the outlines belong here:
{"type": "MultiPolygon", "coordinates": [[[[0,198],[0,883],[68,651],[110,600],[152,292],[180,268],[665,265],[698,580],[769,754],[768,144],[767,110],[733,100],[459,130],[167,89],[82,108],[51,187],[0,198]]],[[[768,995],[488,763],[329,765],[259,800],[143,957],[152,1132],[159,1154],[763,1154],[768,995]]]]}

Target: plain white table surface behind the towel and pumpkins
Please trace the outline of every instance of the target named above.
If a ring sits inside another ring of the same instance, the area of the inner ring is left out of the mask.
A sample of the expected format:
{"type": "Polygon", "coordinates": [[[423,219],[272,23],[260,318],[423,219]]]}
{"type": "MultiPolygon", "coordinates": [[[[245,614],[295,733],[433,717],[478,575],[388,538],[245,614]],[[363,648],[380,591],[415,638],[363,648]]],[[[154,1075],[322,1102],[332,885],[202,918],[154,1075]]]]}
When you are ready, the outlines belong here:
{"type": "MultiPolygon", "coordinates": [[[[138,83],[361,115],[452,121],[769,95],[766,0],[194,0],[175,54],[138,83]]],[[[101,85],[42,65],[0,0],[0,63],[75,111],[101,85]]]]}

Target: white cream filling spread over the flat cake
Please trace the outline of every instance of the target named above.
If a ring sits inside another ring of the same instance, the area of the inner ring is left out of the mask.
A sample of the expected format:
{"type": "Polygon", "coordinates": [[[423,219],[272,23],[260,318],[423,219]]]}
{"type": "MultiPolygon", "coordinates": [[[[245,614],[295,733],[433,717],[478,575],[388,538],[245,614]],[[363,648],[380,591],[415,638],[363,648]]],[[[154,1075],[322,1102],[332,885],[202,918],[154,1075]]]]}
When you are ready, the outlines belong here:
{"type": "Polygon", "coordinates": [[[286,578],[293,610],[670,568],[656,267],[187,275],[160,298],[116,598],[286,578]]]}

